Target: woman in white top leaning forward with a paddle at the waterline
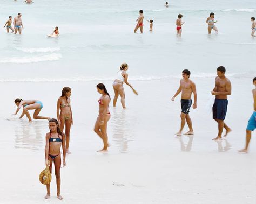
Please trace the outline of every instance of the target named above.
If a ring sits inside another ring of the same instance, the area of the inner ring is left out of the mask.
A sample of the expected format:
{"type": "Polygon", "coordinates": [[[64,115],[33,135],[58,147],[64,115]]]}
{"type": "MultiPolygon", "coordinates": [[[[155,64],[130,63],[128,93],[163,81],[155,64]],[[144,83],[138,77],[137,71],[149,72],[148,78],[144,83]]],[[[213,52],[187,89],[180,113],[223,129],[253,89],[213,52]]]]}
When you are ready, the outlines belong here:
{"type": "Polygon", "coordinates": [[[133,90],[133,93],[138,95],[136,90],[133,89],[132,85],[128,82],[128,73],[126,72],[128,70],[128,65],[126,63],[123,63],[120,66],[120,71],[117,73],[117,78],[113,82],[113,89],[114,89],[114,100],[113,100],[113,107],[116,107],[118,96],[121,97],[121,104],[123,108],[125,107],[125,93],[124,93],[124,87],[123,84],[126,83],[131,89],[133,90]]]}

